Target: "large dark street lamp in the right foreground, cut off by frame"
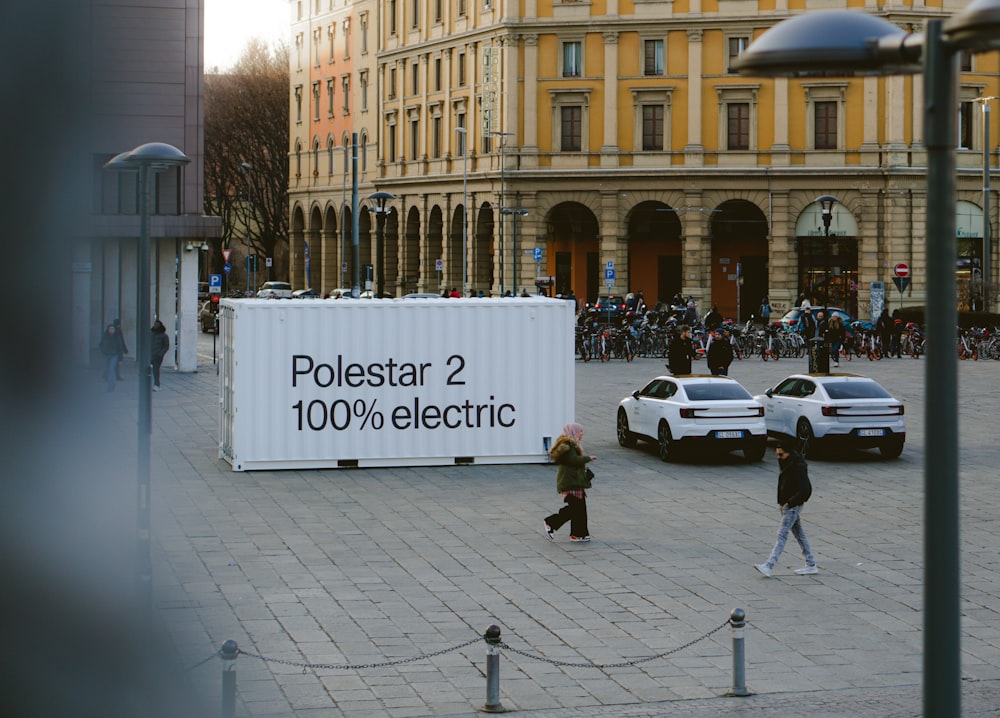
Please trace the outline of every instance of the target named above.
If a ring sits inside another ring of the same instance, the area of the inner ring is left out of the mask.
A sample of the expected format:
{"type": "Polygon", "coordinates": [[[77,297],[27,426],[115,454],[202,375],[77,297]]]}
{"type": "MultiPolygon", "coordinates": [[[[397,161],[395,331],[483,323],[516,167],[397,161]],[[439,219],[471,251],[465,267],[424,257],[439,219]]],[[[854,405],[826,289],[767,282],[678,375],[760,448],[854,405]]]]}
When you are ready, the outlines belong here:
{"type": "Polygon", "coordinates": [[[955,115],[958,54],[1000,48],[1000,0],[974,0],[923,34],[849,10],[778,23],[736,59],[745,75],[911,74],[923,71],[927,147],[927,367],[924,459],[924,697],[927,716],[961,715],[958,358],[955,280],[955,115]]]}

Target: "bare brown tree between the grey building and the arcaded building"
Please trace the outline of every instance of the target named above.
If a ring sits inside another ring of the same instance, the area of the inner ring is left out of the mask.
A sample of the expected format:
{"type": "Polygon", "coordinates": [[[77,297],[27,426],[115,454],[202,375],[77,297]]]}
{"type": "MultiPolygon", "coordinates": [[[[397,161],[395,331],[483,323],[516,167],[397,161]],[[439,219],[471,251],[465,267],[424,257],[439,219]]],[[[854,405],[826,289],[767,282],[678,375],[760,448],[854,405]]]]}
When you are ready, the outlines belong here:
{"type": "MultiPolygon", "coordinates": [[[[251,40],[232,69],[205,77],[205,211],[223,218],[221,249],[260,257],[259,277],[288,277],[288,46],[251,40]],[[264,258],[274,260],[273,276],[264,258]]],[[[246,264],[234,265],[230,281],[246,264]],[[239,271],[237,271],[239,267],[239,271]]],[[[249,278],[244,276],[247,288],[249,278]]]]}

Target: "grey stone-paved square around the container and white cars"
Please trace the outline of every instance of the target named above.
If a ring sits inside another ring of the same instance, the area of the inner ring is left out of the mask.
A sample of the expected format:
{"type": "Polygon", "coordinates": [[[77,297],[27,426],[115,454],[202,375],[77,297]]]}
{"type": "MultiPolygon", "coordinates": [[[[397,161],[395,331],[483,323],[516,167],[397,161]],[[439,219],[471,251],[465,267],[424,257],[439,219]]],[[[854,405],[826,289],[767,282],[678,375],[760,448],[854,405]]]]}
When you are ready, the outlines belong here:
{"type": "MultiPolygon", "coordinates": [[[[896,461],[812,460],[804,523],[821,572],[795,575],[791,542],[764,579],[752,564],[777,526],[773,452],[758,464],[735,454],[664,464],[651,446],[617,445],[618,400],[663,373],[662,360],[577,363],[577,420],[599,460],[594,540],[570,544],[541,530],[558,505],[547,465],[231,471],[217,458],[210,337],[201,353],[198,373],[165,373],[154,395],[155,607],[185,665],[227,639],[289,662],[239,658],[239,715],[475,715],[485,645],[449,649],[491,624],[514,649],[500,659],[509,711],[920,714],[926,360],[835,369],[871,375],[906,402],[906,449],[896,461]],[[734,607],[750,624],[748,698],[721,697],[732,685],[729,628],[695,641],[734,607]],[[661,654],[622,668],[560,664],[661,654]],[[298,665],[383,662],[400,663],[298,665]]],[[[744,360],[731,375],[756,393],[804,366],[744,360]]],[[[1000,715],[1000,363],[959,369],[963,713],[1000,715]]],[[[99,401],[123,427],[134,422],[133,387],[99,401]]],[[[219,672],[214,659],[191,671],[213,700],[219,672]]]]}

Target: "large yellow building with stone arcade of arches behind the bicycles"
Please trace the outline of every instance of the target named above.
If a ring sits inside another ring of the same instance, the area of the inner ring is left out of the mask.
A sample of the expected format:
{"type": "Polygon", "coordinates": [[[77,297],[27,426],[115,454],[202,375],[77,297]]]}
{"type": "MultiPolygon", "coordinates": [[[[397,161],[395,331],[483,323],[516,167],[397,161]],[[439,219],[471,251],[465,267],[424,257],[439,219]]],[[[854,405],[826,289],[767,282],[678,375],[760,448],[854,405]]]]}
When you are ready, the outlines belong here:
{"type": "MultiPolygon", "coordinates": [[[[922,304],[922,78],[757,79],[731,63],[798,12],[856,7],[919,31],[965,4],[372,2],[360,196],[395,196],[384,288],[460,287],[464,256],[466,290],[493,295],[551,278],[550,293],[588,301],[642,290],[652,304],[680,292],[703,312],[717,304],[745,319],[765,295],[780,311],[805,294],[864,317],[871,283],[884,282],[890,307],[922,304]],[[828,225],[821,196],[835,200],[828,225]],[[911,271],[904,294],[891,283],[900,262],[911,271]]],[[[307,44],[314,36],[303,34],[307,44]]],[[[996,53],[965,60],[956,107],[966,303],[983,245],[973,100],[1000,94],[998,73],[996,53]]],[[[339,251],[344,178],[331,179],[293,180],[293,244],[308,235],[339,251]]],[[[377,264],[373,222],[360,214],[361,261],[377,264]]]]}

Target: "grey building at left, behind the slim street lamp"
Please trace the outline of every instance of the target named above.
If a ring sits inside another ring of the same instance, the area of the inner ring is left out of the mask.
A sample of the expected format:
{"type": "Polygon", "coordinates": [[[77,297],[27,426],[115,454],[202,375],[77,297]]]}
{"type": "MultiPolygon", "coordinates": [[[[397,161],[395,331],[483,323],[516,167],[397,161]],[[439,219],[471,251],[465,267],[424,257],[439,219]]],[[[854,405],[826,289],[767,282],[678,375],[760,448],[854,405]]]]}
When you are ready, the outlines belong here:
{"type": "Polygon", "coordinates": [[[199,255],[221,220],[202,215],[203,31],[200,0],[89,0],[90,228],[72,266],[73,356],[88,365],[101,331],[120,317],[135,356],[138,332],[138,178],[105,170],[120,152],[165,142],[191,162],[153,175],[151,318],[171,339],[167,368],[197,366],[199,255]]]}

